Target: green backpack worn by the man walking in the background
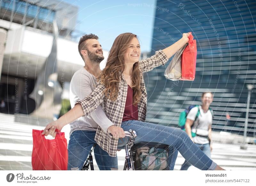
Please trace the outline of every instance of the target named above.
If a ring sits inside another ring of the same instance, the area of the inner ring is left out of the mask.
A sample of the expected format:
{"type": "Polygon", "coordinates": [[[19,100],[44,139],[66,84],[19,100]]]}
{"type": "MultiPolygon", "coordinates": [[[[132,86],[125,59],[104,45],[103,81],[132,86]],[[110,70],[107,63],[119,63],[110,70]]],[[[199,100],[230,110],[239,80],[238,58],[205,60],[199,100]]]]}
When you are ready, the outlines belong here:
{"type": "MultiPolygon", "coordinates": [[[[192,108],[194,108],[194,107],[197,107],[197,109],[198,109],[197,114],[196,114],[196,118],[195,118],[195,121],[196,121],[196,119],[197,119],[198,116],[200,115],[199,105],[190,105],[190,106],[188,106],[187,109],[185,109],[183,112],[180,113],[179,126],[180,126],[180,128],[181,128],[182,130],[184,130],[184,131],[185,131],[185,124],[186,124],[188,112],[189,112],[192,108]]],[[[212,116],[213,116],[213,111],[212,111],[212,109],[209,108],[209,110],[211,111],[212,116]]],[[[194,123],[195,123],[195,121],[194,121],[194,123]]],[[[193,123],[193,125],[194,125],[194,123],[193,123]]],[[[191,126],[191,128],[193,127],[193,125],[191,126]]],[[[192,135],[192,137],[195,137],[195,136],[196,136],[196,133],[191,132],[191,135],[192,135]]]]}

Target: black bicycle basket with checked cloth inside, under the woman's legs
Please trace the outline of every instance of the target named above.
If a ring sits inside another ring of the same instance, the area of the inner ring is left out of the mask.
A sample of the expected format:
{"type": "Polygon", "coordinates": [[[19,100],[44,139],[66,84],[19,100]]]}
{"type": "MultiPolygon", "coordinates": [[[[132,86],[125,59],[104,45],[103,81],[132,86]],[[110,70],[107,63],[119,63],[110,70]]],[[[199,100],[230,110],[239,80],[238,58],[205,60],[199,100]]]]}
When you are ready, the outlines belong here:
{"type": "Polygon", "coordinates": [[[131,148],[135,170],[169,170],[169,146],[161,143],[139,143],[131,148]]]}

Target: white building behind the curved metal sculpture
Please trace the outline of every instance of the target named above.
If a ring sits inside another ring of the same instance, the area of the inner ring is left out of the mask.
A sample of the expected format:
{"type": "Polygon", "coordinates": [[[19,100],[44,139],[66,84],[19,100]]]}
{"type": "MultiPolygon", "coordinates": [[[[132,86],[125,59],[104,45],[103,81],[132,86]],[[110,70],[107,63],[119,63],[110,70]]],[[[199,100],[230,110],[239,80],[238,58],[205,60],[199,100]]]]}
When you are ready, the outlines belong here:
{"type": "MultiPolygon", "coordinates": [[[[0,50],[0,101],[5,102],[5,112],[30,113],[35,109],[35,103],[26,95],[33,91],[36,77],[51,52],[53,20],[59,28],[58,81],[64,92],[69,89],[72,75],[84,66],[77,38],[73,37],[77,12],[76,4],[57,0],[0,1],[0,41],[5,46],[0,50]],[[19,102],[18,108],[15,102],[19,102]]],[[[106,60],[108,51],[103,53],[106,60]]],[[[101,62],[101,68],[104,66],[105,61],[101,62]]],[[[64,95],[68,97],[67,93],[64,95]]]]}

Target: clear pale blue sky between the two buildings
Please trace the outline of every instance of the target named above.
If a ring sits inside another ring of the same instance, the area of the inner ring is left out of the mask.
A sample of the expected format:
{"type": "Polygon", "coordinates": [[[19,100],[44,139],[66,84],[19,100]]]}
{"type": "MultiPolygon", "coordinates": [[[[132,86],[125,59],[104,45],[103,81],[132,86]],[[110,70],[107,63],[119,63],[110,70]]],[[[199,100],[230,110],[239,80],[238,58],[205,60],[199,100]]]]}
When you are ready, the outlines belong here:
{"type": "Polygon", "coordinates": [[[110,50],[119,34],[132,32],[139,37],[141,52],[151,51],[156,0],[64,1],[78,6],[75,29],[98,35],[104,50],[110,50]]]}

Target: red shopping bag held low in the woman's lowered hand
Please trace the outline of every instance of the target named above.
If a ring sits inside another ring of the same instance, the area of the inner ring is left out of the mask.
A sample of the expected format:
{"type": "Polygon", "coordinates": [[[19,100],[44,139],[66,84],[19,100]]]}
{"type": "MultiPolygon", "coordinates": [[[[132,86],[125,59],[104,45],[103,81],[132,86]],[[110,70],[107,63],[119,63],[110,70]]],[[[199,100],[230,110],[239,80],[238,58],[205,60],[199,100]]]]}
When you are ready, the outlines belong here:
{"type": "Polygon", "coordinates": [[[33,170],[67,170],[68,149],[65,133],[57,130],[55,139],[45,139],[43,130],[33,129],[33,170]]]}

